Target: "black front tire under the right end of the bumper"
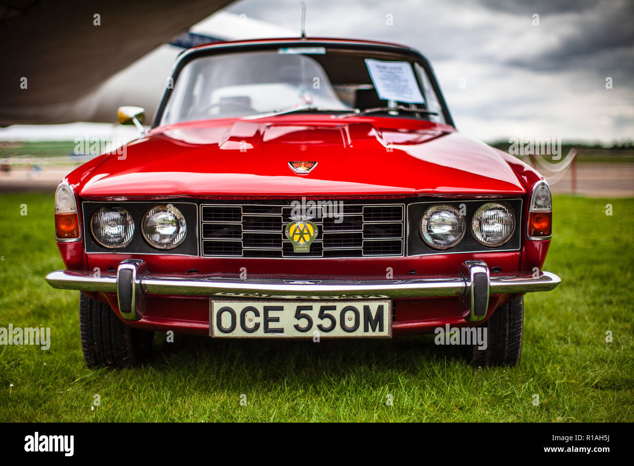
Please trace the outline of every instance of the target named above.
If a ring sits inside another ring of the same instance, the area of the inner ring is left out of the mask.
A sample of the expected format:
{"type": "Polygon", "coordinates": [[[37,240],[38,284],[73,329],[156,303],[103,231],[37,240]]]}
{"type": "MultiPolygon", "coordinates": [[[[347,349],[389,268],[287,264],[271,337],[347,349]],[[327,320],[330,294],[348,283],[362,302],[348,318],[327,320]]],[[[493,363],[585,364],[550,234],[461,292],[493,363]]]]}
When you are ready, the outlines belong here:
{"type": "Polygon", "coordinates": [[[467,359],[474,366],[515,366],[522,353],[524,297],[502,304],[481,325],[487,329],[486,349],[467,347],[467,359]]]}

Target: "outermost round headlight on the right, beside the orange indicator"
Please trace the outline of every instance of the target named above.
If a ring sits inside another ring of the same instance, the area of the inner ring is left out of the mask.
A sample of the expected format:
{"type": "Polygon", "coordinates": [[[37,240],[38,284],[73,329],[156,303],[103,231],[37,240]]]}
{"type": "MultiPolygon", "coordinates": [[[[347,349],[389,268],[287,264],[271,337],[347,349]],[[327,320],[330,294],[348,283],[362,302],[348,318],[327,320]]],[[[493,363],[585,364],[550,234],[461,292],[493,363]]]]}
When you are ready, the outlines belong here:
{"type": "Polygon", "coordinates": [[[515,231],[515,215],[504,204],[488,202],[475,211],[471,222],[475,239],[490,247],[501,246],[515,231]]]}

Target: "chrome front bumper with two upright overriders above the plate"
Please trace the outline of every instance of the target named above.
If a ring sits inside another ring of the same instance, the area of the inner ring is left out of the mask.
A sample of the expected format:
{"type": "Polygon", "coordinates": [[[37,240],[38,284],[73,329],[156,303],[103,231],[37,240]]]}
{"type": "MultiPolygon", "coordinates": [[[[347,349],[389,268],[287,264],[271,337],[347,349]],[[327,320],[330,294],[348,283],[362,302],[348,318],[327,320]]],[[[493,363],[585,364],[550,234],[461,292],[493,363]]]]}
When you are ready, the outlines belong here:
{"type": "Polygon", "coordinates": [[[489,295],[549,291],[560,283],[557,275],[522,273],[490,276],[482,261],[465,261],[460,273],[406,280],[282,280],[222,278],[203,275],[156,275],[146,263],[127,259],[117,273],[92,275],[84,271],[58,270],[46,282],[62,290],[116,292],[119,311],[128,320],[140,320],[146,295],[194,295],[270,299],[368,299],[460,297],[465,319],[486,316],[489,295]],[[467,314],[468,313],[468,314],[467,314]]]}

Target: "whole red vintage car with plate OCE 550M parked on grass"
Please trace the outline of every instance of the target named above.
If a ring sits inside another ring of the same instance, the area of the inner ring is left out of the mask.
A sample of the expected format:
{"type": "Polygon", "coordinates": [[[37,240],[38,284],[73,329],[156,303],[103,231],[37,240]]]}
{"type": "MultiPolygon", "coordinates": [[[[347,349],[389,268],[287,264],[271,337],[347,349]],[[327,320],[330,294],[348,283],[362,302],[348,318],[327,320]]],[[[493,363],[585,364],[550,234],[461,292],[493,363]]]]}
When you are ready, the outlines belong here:
{"type": "MultiPolygon", "coordinates": [[[[119,120],[143,131],[143,109],[119,120]]],[[[152,128],[55,194],[88,366],[154,331],[213,338],[436,333],[515,365],[552,200],[531,167],[456,131],[429,62],[382,42],[184,51],[152,128]]]]}

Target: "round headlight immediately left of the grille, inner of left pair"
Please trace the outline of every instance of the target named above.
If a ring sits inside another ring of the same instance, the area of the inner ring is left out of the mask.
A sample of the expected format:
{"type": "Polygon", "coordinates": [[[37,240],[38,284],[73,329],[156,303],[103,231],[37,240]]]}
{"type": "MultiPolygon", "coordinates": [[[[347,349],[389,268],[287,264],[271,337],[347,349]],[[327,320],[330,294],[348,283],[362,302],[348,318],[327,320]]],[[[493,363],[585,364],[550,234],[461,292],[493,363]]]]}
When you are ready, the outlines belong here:
{"type": "Polygon", "coordinates": [[[157,249],[174,249],[185,239],[187,224],[181,211],[171,204],[152,207],[141,221],[143,238],[157,249]]]}

